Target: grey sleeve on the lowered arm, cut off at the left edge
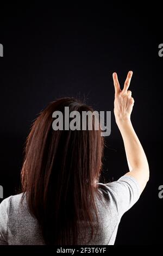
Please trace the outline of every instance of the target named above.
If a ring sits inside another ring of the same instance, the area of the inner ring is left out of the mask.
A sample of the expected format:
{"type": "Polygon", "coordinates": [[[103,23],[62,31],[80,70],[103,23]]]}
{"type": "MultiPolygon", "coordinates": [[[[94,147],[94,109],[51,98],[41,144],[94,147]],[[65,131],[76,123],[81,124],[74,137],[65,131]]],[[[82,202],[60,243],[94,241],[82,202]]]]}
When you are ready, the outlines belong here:
{"type": "Polygon", "coordinates": [[[8,197],[0,204],[0,245],[8,245],[7,225],[8,225],[8,207],[11,197],[8,197]]]}

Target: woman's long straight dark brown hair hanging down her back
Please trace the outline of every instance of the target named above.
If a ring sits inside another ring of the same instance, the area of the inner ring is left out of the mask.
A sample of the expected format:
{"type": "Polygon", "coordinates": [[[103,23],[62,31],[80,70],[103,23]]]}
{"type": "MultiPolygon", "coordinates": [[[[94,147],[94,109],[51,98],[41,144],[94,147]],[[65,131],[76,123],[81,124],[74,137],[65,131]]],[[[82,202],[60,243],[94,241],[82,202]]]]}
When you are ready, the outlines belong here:
{"type": "Polygon", "coordinates": [[[92,239],[95,216],[98,223],[95,181],[101,174],[103,137],[95,130],[95,118],[93,130],[54,131],[52,114],[64,114],[65,106],[93,112],[74,98],[49,103],[32,125],[21,172],[23,196],[47,245],[76,245],[81,220],[90,225],[92,239]]]}

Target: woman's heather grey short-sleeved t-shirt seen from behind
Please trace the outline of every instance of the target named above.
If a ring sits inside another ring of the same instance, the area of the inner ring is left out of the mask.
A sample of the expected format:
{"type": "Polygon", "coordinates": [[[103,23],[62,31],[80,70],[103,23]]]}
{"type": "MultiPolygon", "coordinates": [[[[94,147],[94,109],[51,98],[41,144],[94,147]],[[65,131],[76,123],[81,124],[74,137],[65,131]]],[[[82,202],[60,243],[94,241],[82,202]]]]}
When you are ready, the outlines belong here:
{"type": "MultiPolygon", "coordinates": [[[[140,197],[139,184],[133,177],[124,175],[108,184],[99,183],[99,190],[102,194],[102,200],[96,201],[99,228],[89,245],[114,245],[122,215],[140,197]]],[[[26,199],[20,207],[21,197],[22,194],[10,196],[0,204],[0,245],[44,245],[39,225],[30,215],[26,199]]],[[[79,245],[84,245],[82,237],[89,233],[86,223],[82,223],[79,245]]]]}

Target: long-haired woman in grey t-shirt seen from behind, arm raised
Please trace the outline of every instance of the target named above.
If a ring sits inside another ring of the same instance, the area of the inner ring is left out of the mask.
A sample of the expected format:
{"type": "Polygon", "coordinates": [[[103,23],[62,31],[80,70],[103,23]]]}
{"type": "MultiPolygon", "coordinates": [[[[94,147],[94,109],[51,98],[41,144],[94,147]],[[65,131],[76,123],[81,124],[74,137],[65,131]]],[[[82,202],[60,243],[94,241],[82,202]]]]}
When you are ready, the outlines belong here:
{"type": "Polygon", "coordinates": [[[98,183],[101,130],[52,129],[54,111],[91,111],[75,99],[52,102],[35,120],[26,144],[22,192],[0,205],[1,245],[113,245],[124,212],[139,199],[149,179],[146,155],[130,121],[134,99],[128,72],[121,90],[117,74],[114,114],[130,172],[98,183]]]}

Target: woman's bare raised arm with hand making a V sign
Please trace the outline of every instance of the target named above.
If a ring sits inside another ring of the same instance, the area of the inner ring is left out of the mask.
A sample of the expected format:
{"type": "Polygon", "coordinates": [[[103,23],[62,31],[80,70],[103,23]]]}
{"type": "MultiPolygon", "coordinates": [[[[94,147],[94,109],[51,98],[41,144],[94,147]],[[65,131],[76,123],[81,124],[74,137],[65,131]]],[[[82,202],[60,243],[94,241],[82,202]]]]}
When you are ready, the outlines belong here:
{"type": "Polygon", "coordinates": [[[145,152],[130,120],[134,99],[131,97],[131,91],[128,88],[132,75],[133,72],[129,71],[122,90],[117,74],[112,75],[115,87],[114,114],[116,124],[123,138],[130,170],[126,175],[133,176],[137,180],[140,185],[140,192],[142,192],[149,180],[149,167],[145,152]]]}

